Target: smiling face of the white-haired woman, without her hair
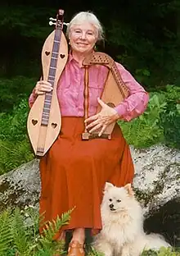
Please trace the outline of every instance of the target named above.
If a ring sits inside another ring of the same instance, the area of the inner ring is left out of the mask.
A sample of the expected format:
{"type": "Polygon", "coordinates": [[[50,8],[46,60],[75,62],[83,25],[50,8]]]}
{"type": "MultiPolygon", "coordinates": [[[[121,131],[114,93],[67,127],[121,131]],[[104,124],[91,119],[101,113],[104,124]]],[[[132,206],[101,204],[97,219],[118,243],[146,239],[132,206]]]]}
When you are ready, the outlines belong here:
{"type": "Polygon", "coordinates": [[[97,42],[97,30],[88,22],[72,25],[70,29],[70,47],[76,53],[90,53],[97,42]]]}

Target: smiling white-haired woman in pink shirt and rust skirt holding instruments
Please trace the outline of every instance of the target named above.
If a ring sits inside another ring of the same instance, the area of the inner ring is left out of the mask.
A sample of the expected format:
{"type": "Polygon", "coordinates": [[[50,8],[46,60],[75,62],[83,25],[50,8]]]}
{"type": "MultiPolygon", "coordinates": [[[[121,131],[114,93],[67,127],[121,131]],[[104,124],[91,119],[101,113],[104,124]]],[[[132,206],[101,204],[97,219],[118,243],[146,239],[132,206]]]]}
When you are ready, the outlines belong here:
{"type": "MultiPolygon", "coordinates": [[[[90,66],[89,73],[89,118],[84,121],[84,57],[92,53],[103,31],[97,17],[88,11],[79,12],[67,29],[70,54],[65,70],[58,82],[57,95],[61,107],[61,133],[51,149],[40,160],[42,190],[40,213],[45,212],[45,221],[56,219],[71,208],[74,211],[70,223],[56,234],[63,239],[65,231],[73,232],[69,245],[70,255],[84,255],[85,229],[92,234],[101,230],[101,199],[106,181],[117,186],[132,183],[134,168],[131,154],[120,127],[116,124],[112,139],[82,140],[84,126],[92,132],[101,128],[99,135],[113,121],[131,121],[146,109],[148,94],[133,76],[116,63],[129,96],[115,108],[103,103],[99,97],[103,91],[107,69],[105,66],[90,66]],[[106,115],[97,112],[101,104],[106,115]]],[[[38,81],[29,97],[31,107],[39,94],[51,91],[45,80],[38,81]]]]}

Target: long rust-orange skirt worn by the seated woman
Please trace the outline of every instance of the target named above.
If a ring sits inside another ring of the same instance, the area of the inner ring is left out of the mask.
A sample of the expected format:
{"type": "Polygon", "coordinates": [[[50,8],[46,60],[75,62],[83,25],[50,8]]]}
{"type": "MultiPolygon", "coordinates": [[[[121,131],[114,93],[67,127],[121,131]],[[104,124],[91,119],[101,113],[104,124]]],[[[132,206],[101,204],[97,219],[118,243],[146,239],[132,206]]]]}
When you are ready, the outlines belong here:
{"type": "MultiPolygon", "coordinates": [[[[61,134],[40,161],[40,214],[44,221],[74,208],[65,230],[101,230],[100,205],[106,181],[132,183],[134,168],[128,144],[118,125],[112,139],[82,140],[82,117],[62,117],[61,134]]],[[[58,234],[56,235],[58,237],[58,234]]]]}

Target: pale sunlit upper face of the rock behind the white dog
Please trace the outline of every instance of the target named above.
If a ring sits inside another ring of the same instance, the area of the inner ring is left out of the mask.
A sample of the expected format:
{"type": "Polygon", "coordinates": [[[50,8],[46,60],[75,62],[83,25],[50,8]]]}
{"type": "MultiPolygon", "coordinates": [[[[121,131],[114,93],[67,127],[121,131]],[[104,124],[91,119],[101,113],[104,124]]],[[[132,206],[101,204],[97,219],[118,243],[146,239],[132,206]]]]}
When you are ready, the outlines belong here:
{"type": "Polygon", "coordinates": [[[135,166],[133,187],[146,217],[173,199],[180,199],[180,150],[156,145],[131,149],[135,166]]]}

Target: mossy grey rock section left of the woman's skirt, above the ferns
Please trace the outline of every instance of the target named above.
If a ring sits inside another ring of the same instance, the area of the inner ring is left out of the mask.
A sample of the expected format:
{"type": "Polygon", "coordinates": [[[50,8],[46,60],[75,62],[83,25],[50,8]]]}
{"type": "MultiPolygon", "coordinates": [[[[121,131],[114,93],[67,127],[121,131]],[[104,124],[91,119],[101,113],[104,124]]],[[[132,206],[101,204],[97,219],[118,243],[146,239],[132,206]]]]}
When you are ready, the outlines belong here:
{"type": "Polygon", "coordinates": [[[0,176],[0,211],[9,206],[37,206],[39,192],[38,160],[34,159],[0,176]]]}

